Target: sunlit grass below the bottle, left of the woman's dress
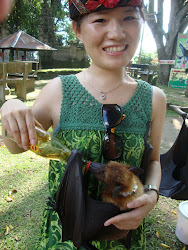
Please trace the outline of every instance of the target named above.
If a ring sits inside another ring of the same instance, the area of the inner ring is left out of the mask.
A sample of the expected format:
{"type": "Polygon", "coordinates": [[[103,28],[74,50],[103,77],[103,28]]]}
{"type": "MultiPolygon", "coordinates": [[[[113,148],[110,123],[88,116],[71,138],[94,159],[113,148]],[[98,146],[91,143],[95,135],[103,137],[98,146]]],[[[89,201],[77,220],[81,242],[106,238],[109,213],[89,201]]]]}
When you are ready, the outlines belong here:
{"type": "Polygon", "coordinates": [[[48,193],[48,160],[0,148],[0,249],[34,249],[48,193]],[[13,202],[7,202],[10,195],[13,202]],[[5,235],[6,226],[11,230],[5,235]],[[16,237],[16,238],[15,238],[16,237]]]}

